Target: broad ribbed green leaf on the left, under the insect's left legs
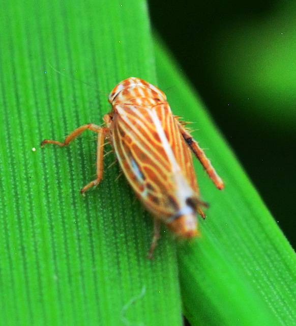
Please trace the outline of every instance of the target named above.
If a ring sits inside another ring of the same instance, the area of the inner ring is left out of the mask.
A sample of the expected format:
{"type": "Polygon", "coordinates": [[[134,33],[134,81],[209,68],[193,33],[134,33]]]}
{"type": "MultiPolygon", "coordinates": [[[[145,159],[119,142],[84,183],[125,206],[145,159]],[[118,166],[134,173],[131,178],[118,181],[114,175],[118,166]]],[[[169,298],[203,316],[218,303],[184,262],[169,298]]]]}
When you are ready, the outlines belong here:
{"type": "Polygon", "coordinates": [[[105,93],[122,79],[157,84],[145,2],[18,0],[0,24],[0,324],[181,325],[173,241],[163,236],[146,258],[152,219],[116,180],[119,167],[106,168],[113,154],[82,197],[95,174],[93,135],[40,148],[101,124],[105,93]]]}

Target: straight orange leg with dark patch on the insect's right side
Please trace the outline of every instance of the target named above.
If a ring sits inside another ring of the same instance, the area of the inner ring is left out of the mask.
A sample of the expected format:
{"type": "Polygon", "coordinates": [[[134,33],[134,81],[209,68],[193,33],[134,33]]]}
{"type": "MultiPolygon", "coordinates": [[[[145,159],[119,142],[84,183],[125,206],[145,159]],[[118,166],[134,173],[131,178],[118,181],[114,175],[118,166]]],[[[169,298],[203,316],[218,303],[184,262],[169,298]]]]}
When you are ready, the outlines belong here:
{"type": "Polygon", "coordinates": [[[224,188],[224,183],[219,177],[215,169],[213,168],[211,161],[205,156],[204,151],[199,147],[196,140],[193,139],[192,135],[186,130],[178,121],[180,131],[183,135],[185,142],[188,144],[194,155],[198,158],[205,171],[208,173],[209,177],[213,180],[218,189],[224,188]]]}

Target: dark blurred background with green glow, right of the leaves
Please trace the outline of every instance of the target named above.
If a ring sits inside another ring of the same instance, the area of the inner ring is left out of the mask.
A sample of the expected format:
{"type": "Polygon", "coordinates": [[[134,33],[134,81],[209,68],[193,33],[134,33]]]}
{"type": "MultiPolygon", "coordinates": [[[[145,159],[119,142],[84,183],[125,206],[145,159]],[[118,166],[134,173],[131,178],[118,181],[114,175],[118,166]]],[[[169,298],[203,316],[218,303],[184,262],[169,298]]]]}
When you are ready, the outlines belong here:
{"type": "Polygon", "coordinates": [[[296,248],[296,3],[149,4],[152,25],[296,248]]]}

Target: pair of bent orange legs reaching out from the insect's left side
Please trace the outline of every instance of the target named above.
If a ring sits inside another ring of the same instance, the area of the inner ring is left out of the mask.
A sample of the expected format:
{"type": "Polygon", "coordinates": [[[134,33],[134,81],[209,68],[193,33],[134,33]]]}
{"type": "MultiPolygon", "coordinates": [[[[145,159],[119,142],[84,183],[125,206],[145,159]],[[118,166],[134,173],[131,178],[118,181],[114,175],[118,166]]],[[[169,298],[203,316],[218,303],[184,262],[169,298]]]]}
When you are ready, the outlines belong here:
{"type": "Polygon", "coordinates": [[[69,145],[81,132],[84,130],[93,130],[98,133],[98,145],[97,145],[97,178],[92,182],[86,184],[81,188],[80,192],[83,194],[88,188],[97,185],[103,176],[103,147],[104,147],[104,139],[108,132],[107,127],[100,127],[94,123],[84,124],[83,126],[72,131],[66,138],[64,143],[54,140],[45,139],[41,142],[41,146],[45,144],[56,144],[58,146],[67,146],[69,145]]]}

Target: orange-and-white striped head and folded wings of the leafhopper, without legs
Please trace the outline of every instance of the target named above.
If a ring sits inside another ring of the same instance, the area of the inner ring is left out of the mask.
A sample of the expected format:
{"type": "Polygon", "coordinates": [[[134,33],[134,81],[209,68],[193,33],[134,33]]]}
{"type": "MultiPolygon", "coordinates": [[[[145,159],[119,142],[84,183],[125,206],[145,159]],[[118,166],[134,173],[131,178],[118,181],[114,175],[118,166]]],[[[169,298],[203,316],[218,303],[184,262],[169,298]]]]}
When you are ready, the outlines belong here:
{"type": "Polygon", "coordinates": [[[165,95],[130,77],[109,96],[111,141],[121,168],[147,210],[169,223],[198,201],[192,154],[165,95]]]}

